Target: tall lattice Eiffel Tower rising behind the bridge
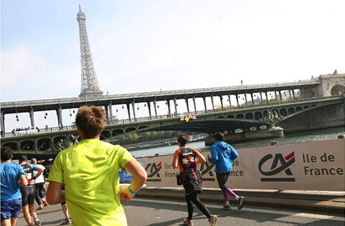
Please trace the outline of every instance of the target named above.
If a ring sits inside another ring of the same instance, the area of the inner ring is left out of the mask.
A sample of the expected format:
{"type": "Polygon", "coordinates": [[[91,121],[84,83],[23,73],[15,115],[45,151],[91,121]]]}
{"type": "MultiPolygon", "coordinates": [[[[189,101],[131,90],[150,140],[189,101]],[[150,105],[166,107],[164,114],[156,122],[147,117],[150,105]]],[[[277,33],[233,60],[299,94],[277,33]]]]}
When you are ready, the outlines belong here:
{"type": "Polygon", "coordinates": [[[101,96],[103,92],[99,88],[95,67],[92,61],[90,44],[88,43],[88,32],[86,32],[86,16],[81,11],[79,2],[79,12],[77,14],[79,23],[79,40],[81,55],[81,92],[79,96],[101,96]]]}

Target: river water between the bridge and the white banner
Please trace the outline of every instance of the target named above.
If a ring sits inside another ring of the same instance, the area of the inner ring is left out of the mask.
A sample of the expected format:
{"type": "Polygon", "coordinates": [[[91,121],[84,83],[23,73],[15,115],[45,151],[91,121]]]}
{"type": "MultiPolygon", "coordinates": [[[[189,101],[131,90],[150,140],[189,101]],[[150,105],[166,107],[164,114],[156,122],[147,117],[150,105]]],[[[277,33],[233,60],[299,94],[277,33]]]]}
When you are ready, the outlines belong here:
{"type": "MultiPolygon", "coordinates": [[[[244,143],[235,143],[231,145],[233,145],[233,147],[235,148],[244,148],[244,147],[270,145],[270,141],[277,141],[277,144],[283,144],[283,143],[300,143],[300,142],[306,142],[306,141],[331,140],[331,139],[336,139],[337,136],[340,134],[345,135],[344,127],[333,127],[333,128],[323,129],[323,130],[295,132],[295,133],[285,134],[285,136],[281,138],[268,138],[264,140],[247,141],[244,143]]],[[[201,152],[210,150],[210,146],[205,146],[204,141],[189,143],[189,145],[190,147],[195,147],[198,150],[201,150],[201,152]]],[[[175,150],[177,149],[178,149],[177,145],[171,145],[171,146],[166,146],[166,147],[154,147],[154,148],[148,148],[144,150],[135,150],[135,151],[131,151],[130,153],[136,158],[140,158],[140,157],[145,157],[145,156],[155,156],[155,154],[159,154],[159,155],[174,154],[175,150]]]]}

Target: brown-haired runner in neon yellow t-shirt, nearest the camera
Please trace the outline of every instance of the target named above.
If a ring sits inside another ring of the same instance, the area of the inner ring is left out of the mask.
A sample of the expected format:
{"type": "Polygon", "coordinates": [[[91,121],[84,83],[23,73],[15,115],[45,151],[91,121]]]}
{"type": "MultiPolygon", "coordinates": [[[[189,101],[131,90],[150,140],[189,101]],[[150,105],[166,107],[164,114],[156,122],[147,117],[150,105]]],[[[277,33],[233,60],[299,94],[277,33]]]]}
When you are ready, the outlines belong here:
{"type": "Polygon", "coordinates": [[[57,155],[48,177],[47,201],[62,203],[66,196],[72,225],[127,225],[120,197],[129,201],[147,178],[144,167],[124,147],[99,141],[103,114],[99,107],[79,108],[76,124],[81,142],[57,155]],[[119,188],[120,167],[133,175],[128,188],[119,188]],[[66,194],[61,191],[63,184],[66,194]]]}

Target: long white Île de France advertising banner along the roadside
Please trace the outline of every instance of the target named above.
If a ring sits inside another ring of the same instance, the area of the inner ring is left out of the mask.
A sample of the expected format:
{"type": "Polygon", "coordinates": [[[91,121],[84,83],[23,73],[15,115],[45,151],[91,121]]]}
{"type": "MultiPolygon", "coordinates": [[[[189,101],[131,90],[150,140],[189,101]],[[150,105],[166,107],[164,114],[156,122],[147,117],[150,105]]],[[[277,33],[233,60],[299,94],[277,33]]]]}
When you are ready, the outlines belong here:
{"type": "MultiPolygon", "coordinates": [[[[193,147],[193,143],[190,145],[193,147]]],[[[177,147],[178,148],[178,147],[177,147]]],[[[176,149],[177,149],[176,148],[176,149]]],[[[237,149],[228,187],[237,189],[345,190],[345,139],[237,149]]],[[[206,156],[210,152],[201,152],[206,156]]],[[[172,155],[144,158],[147,187],[178,187],[172,155]]],[[[215,165],[197,167],[205,188],[218,188],[215,165]]]]}

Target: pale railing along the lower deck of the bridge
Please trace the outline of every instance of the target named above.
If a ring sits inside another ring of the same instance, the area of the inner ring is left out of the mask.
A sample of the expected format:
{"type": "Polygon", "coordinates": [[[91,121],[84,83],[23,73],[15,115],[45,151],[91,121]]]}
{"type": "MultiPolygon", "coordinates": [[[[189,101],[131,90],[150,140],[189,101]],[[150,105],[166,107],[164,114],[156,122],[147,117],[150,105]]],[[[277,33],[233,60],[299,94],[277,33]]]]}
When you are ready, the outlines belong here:
{"type": "MultiPolygon", "coordinates": [[[[280,104],[286,104],[286,103],[303,103],[307,101],[318,101],[318,100],[323,100],[323,99],[335,99],[339,98],[339,95],[334,95],[334,96],[322,96],[322,97],[313,97],[313,98],[308,98],[308,99],[295,99],[295,100],[288,100],[288,101],[275,101],[275,102],[270,102],[270,103],[255,103],[255,104],[250,104],[250,105],[242,105],[242,106],[235,106],[231,107],[227,106],[224,107],[223,109],[214,109],[214,110],[201,110],[195,112],[197,115],[200,114],[208,114],[208,113],[215,113],[215,112],[226,112],[226,111],[233,111],[233,110],[244,110],[248,108],[254,108],[254,107],[264,107],[264,106],[272,106],[272,105],[280,105],[280,104]]],[[[141,121],[152,121],[152,120],[159,120],[159,119],[171,119],[171,118],[179,118],[179,116],[187,116],[188,112],[184,113],[177,113],[177,114],[163,114],[163,115],[158,115],[158,116],[146,116],[146,117],[140,117],[136,119],[120,119],[120,120],[112,120],[110,121],[110,125],[116,125],[116,124],[124,124],[124,123],[132,123],[132,122],[141,122],[141,121]]],[[[108,125],[106,125],[108,126],[108,125]]],[[[23,132],[21,133],[16,133],[14,132],[6,132],[5,134],[2,135],[2,137],[11,137],[11,136],[23,136],[23,135],[29,135],[29,134],[41,134],[41,133],[46,133],[46,132],[59,132],[59,131],[66,131],[66,130],[77,130],[76,125],[66,125],[62,127],[49,127],[49,128],[42,128],[37,130],[37,132],[23,132]]]]}

